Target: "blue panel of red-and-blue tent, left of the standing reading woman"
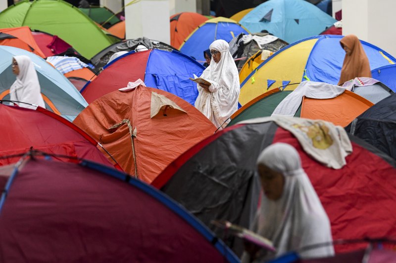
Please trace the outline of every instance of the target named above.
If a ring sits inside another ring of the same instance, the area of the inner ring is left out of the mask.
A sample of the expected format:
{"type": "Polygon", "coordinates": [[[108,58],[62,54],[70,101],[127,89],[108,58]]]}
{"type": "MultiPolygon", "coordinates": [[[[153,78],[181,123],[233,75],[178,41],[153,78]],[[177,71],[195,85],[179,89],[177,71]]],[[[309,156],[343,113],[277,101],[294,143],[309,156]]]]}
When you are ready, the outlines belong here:
{"type": "Polygon", "coordinates": [[[144,81],[148,87],[167,91],[194,105],[198,89],[189,78],[193,74],[201,75],[204,70],[198,62],[178,51],[153,49],[148,58],[144,81]]]}

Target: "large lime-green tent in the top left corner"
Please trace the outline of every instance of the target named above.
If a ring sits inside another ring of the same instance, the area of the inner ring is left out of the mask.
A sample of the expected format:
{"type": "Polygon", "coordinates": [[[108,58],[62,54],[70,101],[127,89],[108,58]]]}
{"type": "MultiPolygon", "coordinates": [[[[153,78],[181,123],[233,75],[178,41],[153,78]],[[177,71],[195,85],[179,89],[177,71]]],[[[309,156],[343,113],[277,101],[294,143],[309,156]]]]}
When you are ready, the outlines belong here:
{"type": "Polygon", "coordinates": [[[86,58],[113,43],[94,21],[63,0],[24,0],[0,13],[0,28],[22,26],[56,35],[86,58]]]}

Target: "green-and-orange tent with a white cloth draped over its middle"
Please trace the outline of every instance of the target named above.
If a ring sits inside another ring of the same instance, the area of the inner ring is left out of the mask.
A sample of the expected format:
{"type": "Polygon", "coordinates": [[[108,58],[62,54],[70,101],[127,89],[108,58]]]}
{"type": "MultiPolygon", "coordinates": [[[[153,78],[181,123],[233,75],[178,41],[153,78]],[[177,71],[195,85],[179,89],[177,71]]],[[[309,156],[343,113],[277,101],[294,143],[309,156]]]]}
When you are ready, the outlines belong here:
{"type": "MultiPolygon", "coordinates": [[[[271,116],[275,108],[292,91],[272,89],[251,100],[235,112],[228,126],[240,121],[271,116]]],[[[373,103],[348,90],[332,99],[303,97],[294,116],[308,119],[323,119],[335,125],[347,126],[356,116],[373,106],[373,103]]]]}

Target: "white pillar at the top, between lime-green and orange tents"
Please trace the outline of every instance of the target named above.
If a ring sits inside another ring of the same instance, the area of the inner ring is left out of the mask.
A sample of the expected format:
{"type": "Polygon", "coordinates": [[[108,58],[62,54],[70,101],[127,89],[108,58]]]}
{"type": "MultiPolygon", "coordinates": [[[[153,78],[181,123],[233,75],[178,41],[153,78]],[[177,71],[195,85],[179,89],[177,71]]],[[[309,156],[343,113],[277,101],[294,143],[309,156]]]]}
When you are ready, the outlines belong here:
{"type": "Polygon", "coordinates": [[[125,6],[125,31],[127,39],[146,37],[170,44],[169,0],[141,0],[125,6]]]}

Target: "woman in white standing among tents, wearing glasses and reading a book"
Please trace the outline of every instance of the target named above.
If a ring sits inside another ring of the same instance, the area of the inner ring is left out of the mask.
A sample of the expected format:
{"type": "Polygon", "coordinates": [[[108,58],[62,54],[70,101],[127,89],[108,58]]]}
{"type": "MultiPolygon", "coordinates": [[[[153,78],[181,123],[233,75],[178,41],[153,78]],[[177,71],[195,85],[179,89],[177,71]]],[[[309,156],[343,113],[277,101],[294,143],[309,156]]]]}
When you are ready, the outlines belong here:
{"type": "Polygon", "coordinates": [[[240,93],[239,74],[234,59],[224,40],[210,44],[212,59],[200,77],[208,80],[209,86],[198,87],[195,107],[210,119],[216,127],[224,128],[229,117],[238,110],[240,93]]]}

